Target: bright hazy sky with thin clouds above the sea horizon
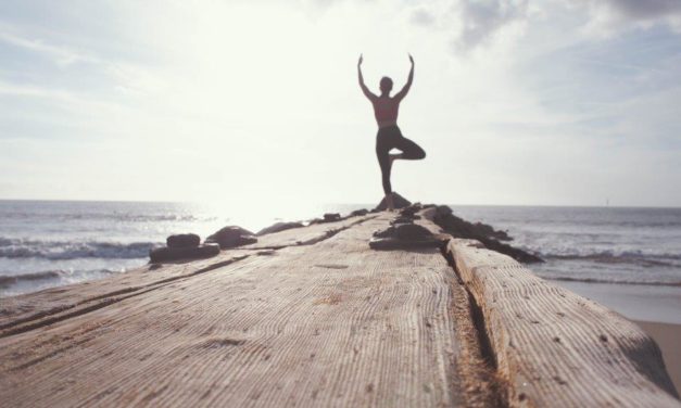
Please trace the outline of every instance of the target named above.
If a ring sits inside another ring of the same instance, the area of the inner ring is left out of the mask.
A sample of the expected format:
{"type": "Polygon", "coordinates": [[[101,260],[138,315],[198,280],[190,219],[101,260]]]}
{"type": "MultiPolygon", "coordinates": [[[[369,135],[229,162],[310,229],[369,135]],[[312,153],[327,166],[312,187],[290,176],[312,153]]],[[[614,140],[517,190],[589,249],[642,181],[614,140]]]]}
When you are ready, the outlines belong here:
{"type": "Polygon", "coordinates": [[[0,199],[681,206],[678,0],[0,0],[0,199]]]}

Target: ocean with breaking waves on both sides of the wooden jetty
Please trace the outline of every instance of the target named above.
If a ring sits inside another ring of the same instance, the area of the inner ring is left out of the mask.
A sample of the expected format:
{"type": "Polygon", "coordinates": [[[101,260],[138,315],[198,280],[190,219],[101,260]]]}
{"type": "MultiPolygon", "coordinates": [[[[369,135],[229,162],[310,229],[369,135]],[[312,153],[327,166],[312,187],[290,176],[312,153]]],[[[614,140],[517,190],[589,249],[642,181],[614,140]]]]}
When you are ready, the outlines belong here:
{"type": "MultiPolygon", "coordinates": [[[[273,214],[191,203],[0,201],[0,297],[123,273],[144,265],[149,250],[172,233],[203,239],[227,225],[256,232],[278,220],[362,207],[370,205],[273,214]]],[[[510,244],[546,260],[530,268],[555,282],[681,291],[681,208],[451,207],[508,231],[510,244]]]]}

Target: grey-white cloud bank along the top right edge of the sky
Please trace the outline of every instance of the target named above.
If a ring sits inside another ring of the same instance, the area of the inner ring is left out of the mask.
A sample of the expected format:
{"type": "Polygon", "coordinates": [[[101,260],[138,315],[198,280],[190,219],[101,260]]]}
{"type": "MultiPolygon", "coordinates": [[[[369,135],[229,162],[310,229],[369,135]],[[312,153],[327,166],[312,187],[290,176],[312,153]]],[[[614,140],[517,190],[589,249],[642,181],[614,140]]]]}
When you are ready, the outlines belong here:
{"type": "Polygon", "coordinates": [[[560,33],[610,37],[636,28],[666,26],[681,33],[679,0],[441,0],[409,14],[414,25],[449,29],[457,52],[489,47],[512,27],[556,25],[560,33]],[[552,23],[553,22],[553,23],[552,23]]]}

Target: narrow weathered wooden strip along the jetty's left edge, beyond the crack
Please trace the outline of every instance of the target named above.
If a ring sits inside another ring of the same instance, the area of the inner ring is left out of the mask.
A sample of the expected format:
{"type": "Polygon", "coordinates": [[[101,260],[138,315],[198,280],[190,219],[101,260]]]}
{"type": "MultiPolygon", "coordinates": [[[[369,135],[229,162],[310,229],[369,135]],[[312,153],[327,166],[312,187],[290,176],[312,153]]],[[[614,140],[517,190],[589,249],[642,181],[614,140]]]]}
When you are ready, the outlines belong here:
{"type": "Polygon", "coordinates": [[[207,259],[147,265],[103,280],[3,298],[0,299],[0,336],[68,318],[72,315],[81,314],[83,310],[104,307],[157,285],[168,284],[177,279],[203,273],[247,256],[257,255],[258,250],[312,244],[373,217],[376,215],[350,217],[340,222],[313,225],[295,229],[298,232],[290,230],[270,233],[258,238],[255,244],[223,251],[218,256],[207,259]]]}

